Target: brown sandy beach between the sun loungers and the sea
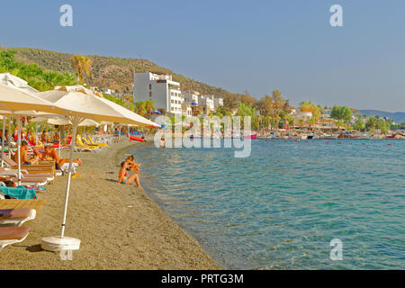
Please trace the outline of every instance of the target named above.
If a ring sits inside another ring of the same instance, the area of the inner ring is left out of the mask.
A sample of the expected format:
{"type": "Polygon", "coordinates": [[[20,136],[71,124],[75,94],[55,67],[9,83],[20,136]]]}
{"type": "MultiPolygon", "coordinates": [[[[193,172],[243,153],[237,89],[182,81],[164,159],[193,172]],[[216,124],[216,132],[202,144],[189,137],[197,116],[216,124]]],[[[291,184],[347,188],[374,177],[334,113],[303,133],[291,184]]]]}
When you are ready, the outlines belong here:
{"type": "Polygon", "coordinates": [[[0,253],[0,270],[220,268],[146,193],[134,184],[117,184],[130,145],[140,144],[125,139],[100,153],[76,153],[84,165],[77,170],[82,176],[72,179],[66,236],[82,243],[72,260],[40,249],[40,238],[60,233],[65,175],[38,193],[46,204],[24,224],[31,227],[28,238],[0,253]]]}

